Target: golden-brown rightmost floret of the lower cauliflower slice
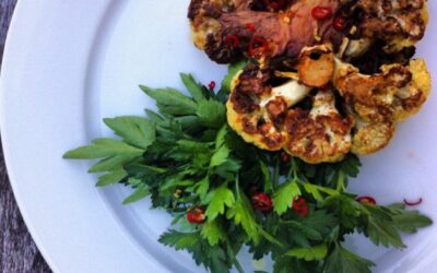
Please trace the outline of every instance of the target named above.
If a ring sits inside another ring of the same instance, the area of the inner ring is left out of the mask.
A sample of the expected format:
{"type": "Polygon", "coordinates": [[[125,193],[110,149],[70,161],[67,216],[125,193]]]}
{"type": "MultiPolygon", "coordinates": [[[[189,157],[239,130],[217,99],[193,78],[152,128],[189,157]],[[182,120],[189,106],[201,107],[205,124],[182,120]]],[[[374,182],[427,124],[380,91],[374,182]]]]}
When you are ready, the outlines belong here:
{"type": "Polygon", "coordinates": [[[399,122],[416,114],[430,93],[424,60],[382,66],[381,73],[365,75],[336,60],[333,84],[346,105],[365,122],[399,122]]]}

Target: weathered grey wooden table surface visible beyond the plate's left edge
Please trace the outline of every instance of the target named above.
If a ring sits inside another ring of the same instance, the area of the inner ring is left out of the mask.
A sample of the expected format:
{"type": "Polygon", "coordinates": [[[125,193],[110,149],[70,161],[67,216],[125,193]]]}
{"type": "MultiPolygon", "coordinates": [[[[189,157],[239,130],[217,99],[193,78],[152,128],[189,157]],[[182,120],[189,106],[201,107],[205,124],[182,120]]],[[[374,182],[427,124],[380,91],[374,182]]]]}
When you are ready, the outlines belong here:
{"type": "MultiPolygon", "coordinates": [[[[0,0],[0,60],[16,0],[0,0]]],[[[51,272],[20,214],[0,146],[0,272],[51,272]]]]}

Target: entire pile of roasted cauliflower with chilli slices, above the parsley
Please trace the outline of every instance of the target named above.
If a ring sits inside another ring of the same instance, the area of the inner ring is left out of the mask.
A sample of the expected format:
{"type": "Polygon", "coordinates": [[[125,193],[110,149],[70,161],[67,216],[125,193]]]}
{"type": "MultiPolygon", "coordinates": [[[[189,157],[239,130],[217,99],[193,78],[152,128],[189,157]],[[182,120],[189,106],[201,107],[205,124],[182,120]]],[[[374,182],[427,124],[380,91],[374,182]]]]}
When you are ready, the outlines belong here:
{"type": "Polygon", "coordinates": [[[432,92],[425,60],[412,59],[427,1],[270,2],[191,0],[194,45],[217,63],[251,60],[232,81],[228,124],[310,164],[386,147],[432,92]]]}

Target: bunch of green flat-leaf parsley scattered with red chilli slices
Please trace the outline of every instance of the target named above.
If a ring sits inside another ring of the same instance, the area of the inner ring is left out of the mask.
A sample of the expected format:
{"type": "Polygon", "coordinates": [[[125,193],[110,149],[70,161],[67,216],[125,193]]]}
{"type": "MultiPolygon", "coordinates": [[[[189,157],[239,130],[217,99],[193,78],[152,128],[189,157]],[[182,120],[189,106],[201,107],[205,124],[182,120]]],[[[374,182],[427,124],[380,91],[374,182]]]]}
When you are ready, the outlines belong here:
{"type": "Polygon", "coordinates": [[[253,259],[271,256],[275,273],[365,273],[373,265],[343,246],[361,233],[377,246],[405,248],[402,233],[432,224],[403,204],[363,202],[346,192],[359,159],[309,165],[244,142],[226,123],[231,81],[245,62],[229,67],[222,88],[181,74],[190,96],[173,88],[141,90],[158,111],[104,119],[119,138],[101,138],[64,154],[98,159],[90,173],[97,186],[133,189],[125,204],[143,198],[174,216],[160,241],[190,252],[211,272],[244,272],[236,256],[248,246],[253,259]]]}

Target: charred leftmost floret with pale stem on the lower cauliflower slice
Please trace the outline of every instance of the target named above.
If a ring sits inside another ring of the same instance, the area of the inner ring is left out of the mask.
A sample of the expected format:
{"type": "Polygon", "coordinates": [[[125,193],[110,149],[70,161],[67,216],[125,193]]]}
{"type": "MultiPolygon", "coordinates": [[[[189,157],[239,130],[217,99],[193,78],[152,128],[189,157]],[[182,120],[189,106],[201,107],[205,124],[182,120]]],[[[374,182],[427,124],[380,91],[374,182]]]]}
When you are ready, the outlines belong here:
{"type": "Polygon", "coordinates": [[[249,64],[232,82],[232,94],[226,104],[227,121],[241,138],[256,146],[279,151],[288,140],[283,130],[286,111],[304,99],[310,87],[291,80],[272,87],[269,73],[249,64]]]}

